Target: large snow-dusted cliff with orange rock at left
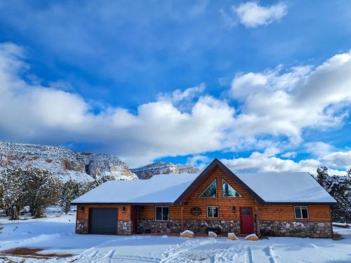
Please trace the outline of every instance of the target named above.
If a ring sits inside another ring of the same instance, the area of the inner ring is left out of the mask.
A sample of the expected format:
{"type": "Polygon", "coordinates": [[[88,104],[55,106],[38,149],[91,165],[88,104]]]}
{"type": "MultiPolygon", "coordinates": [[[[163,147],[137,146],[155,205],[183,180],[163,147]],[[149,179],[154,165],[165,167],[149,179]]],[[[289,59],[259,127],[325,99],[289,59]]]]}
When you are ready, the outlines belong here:
{"type": "Polygon", "coordinates": [[[72,151],[65,147],[0,141],[0,169],[8,166],[51,170],[62,181],[91,181],[103,175],[117,180],[138,177],[116,156],[72,151]]]}

